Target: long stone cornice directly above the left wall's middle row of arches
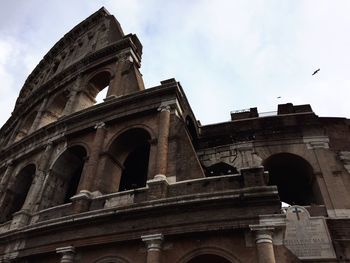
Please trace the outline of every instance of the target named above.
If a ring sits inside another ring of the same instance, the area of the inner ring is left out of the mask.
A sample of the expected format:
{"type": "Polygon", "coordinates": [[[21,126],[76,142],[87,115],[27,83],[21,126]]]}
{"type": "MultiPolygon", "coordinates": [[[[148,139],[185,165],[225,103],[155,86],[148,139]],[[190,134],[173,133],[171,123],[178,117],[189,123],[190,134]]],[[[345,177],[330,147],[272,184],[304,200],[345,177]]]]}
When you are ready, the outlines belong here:
{"type": "Polygon", "coordinates": [[[7,146],[0,151],[0,159],[8,160],[11,156],[21,153],[21,155],[31,154],[37,149],[42,149],[47,140],[60,141],[65,139],[67,135],[76,132],[88,132],[93,129],[96,122],[113,122],[118,118],[125,117],[126,105],[134,105],[128,115],[145,114],[147,112],[157,113],[157,108],[163,98],[177,98],[181,104],[184,102],[179,98],[178,87],[158,86],[141,92],[113,98],[104,103],[78,111],[71,115],[65,116],[56,122],[53,122],[41,129],[29,134],[22,140],[7,146]],[[140,103],[142,101],[142,103],[140,103]],[[23,151],[23,149],[28,149],[23,151]]]}

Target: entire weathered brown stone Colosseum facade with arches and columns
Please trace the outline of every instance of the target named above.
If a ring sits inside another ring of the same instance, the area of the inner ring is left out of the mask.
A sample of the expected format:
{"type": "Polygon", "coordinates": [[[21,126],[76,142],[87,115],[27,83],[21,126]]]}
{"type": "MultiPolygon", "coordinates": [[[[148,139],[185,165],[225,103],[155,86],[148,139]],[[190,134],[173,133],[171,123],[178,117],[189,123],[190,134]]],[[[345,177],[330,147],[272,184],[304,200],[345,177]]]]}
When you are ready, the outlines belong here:
{"type": "Polygon", "coordinates": [[[288,103],[201,125],[141,56],[102,8],[30,74],[0,130],[0,262],[350,260],[350,120],[288,103]]]}

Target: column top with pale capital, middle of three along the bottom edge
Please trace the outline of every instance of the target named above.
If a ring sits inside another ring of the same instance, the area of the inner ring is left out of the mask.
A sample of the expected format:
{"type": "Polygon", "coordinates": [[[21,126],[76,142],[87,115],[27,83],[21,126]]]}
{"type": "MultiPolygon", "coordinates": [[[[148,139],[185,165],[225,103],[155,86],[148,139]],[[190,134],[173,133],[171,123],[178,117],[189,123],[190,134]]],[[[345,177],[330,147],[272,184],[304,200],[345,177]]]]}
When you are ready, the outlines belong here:
{"type": "Polygon", "coordinates": [[[162,234],[153,234],[141,236],[143,242],[146,243],[147,247],[147,263],[160,263],[161,261],[161,251],[163,243],[162,234]]]}

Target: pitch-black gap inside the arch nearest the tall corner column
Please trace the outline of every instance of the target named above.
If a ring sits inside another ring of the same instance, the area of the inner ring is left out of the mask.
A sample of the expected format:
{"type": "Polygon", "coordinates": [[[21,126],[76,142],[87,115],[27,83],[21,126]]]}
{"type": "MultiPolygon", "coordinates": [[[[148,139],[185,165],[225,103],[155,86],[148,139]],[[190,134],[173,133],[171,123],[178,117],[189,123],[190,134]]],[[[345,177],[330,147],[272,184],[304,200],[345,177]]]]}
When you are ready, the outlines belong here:
{"type": "Polygon", "coordinates": [[[138,146],[133,150],[124,162],[124,170],[121,176],[119,191],[126,191],[146,186],[149,144],[138,146]]]}

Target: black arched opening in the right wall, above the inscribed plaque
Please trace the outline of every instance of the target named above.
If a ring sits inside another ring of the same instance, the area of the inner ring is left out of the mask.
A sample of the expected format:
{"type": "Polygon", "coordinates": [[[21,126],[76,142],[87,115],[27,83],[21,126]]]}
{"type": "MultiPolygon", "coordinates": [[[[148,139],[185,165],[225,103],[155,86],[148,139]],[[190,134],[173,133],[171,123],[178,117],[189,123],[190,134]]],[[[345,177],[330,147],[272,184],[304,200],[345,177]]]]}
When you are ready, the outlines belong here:
{"type": "Polygon", "coordinates": [[[322,204],[320,190],[311,165],[291,153],[270,156],[264,162],[269,185],[277,185],[282,202],[290,205],[322,204]]]}

